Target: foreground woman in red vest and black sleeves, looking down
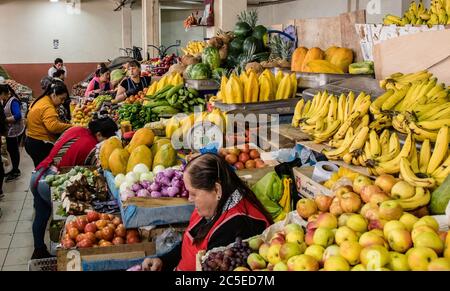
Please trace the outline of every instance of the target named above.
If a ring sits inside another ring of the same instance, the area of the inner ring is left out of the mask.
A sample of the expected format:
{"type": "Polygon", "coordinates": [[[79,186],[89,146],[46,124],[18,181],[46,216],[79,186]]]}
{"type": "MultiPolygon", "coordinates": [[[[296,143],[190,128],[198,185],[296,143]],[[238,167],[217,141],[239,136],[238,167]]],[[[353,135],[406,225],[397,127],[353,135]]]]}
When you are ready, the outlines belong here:
{"type": "Polygon", "coordinates": [[[255,194],[227,162],[215,154],[192,160],[184,183],[195,210],[181,246],[161,258],[146,259],[144,270],[195,271],[199,251],[226,246],[237,237],[262,233],[273,221],[255,194]]]}

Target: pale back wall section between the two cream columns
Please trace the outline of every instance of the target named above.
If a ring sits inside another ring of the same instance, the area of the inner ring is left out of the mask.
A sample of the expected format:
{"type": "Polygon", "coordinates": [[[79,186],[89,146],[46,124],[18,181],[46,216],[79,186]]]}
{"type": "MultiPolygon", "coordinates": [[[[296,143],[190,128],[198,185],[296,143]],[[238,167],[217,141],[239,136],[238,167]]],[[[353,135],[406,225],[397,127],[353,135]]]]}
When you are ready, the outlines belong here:
{"type": "MultiPolygon", "coordinates": [[[[183,21],[191,14],[192,10],[170,10],[161,11],[161,44],[169,46],[175,44],[176,40],[181,40],[181,47],[186,46],[190,40],[203,40],[205,29],[203,27],[184,29],[183,21]]],[[[169,53],[173,53],[170,50],[169,53]]]]}

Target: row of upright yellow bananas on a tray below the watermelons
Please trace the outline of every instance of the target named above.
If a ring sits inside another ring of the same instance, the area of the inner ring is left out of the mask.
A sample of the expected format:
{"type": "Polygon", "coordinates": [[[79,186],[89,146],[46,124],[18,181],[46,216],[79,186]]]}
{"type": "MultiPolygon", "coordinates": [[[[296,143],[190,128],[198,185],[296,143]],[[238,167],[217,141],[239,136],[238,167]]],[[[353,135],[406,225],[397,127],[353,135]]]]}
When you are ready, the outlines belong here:
{"type": "Polygon", "coordinates": [[[275,76],[265,70],[259,77],[252,69],[238,77],[232,73],[230,78],[222,76],[217,100],[226,104],[266,102],[294,98],[297,94],[297,76],[279,71],[275,76]]]}

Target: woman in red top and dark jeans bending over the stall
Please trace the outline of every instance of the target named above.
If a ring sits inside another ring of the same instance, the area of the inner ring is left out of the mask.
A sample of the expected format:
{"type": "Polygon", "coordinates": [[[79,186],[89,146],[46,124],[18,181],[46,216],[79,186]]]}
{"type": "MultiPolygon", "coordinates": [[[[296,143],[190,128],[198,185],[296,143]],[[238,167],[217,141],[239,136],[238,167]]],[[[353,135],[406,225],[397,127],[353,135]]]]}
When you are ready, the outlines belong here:
{"type": "Polygon", "coordinates": [[[52,211],[50,187],[45,182],[61,167],[95,165],[96,145],[116,134],[116,123],[110,118],[97,119],[89,123],[89,129],[73,127],[55,143],[48,157],[33,172],[30,190],[34,196],[36,215],[33,221],[34,252],[31,259],[50,257],[44,243],[45,229],[52,211]]]}

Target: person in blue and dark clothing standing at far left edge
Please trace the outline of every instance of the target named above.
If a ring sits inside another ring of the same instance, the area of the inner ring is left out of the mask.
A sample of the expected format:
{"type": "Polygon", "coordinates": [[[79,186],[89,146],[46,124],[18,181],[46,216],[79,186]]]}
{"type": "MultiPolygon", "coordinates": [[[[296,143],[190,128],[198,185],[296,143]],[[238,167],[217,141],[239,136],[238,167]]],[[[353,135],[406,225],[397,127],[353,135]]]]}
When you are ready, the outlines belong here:
{"type": "Polygon", "coordinates": [[[20,99],[11,86],[7,84],[0,85],[0,100],[3,103],[3,110],[5,112],[8,128],[6,148],[8,149],[13,166],[11,172],[6,174],[6,182],[10,182],[20,177],[19,138],[25,131],[25,119],[22,117],[20,99]]]}

